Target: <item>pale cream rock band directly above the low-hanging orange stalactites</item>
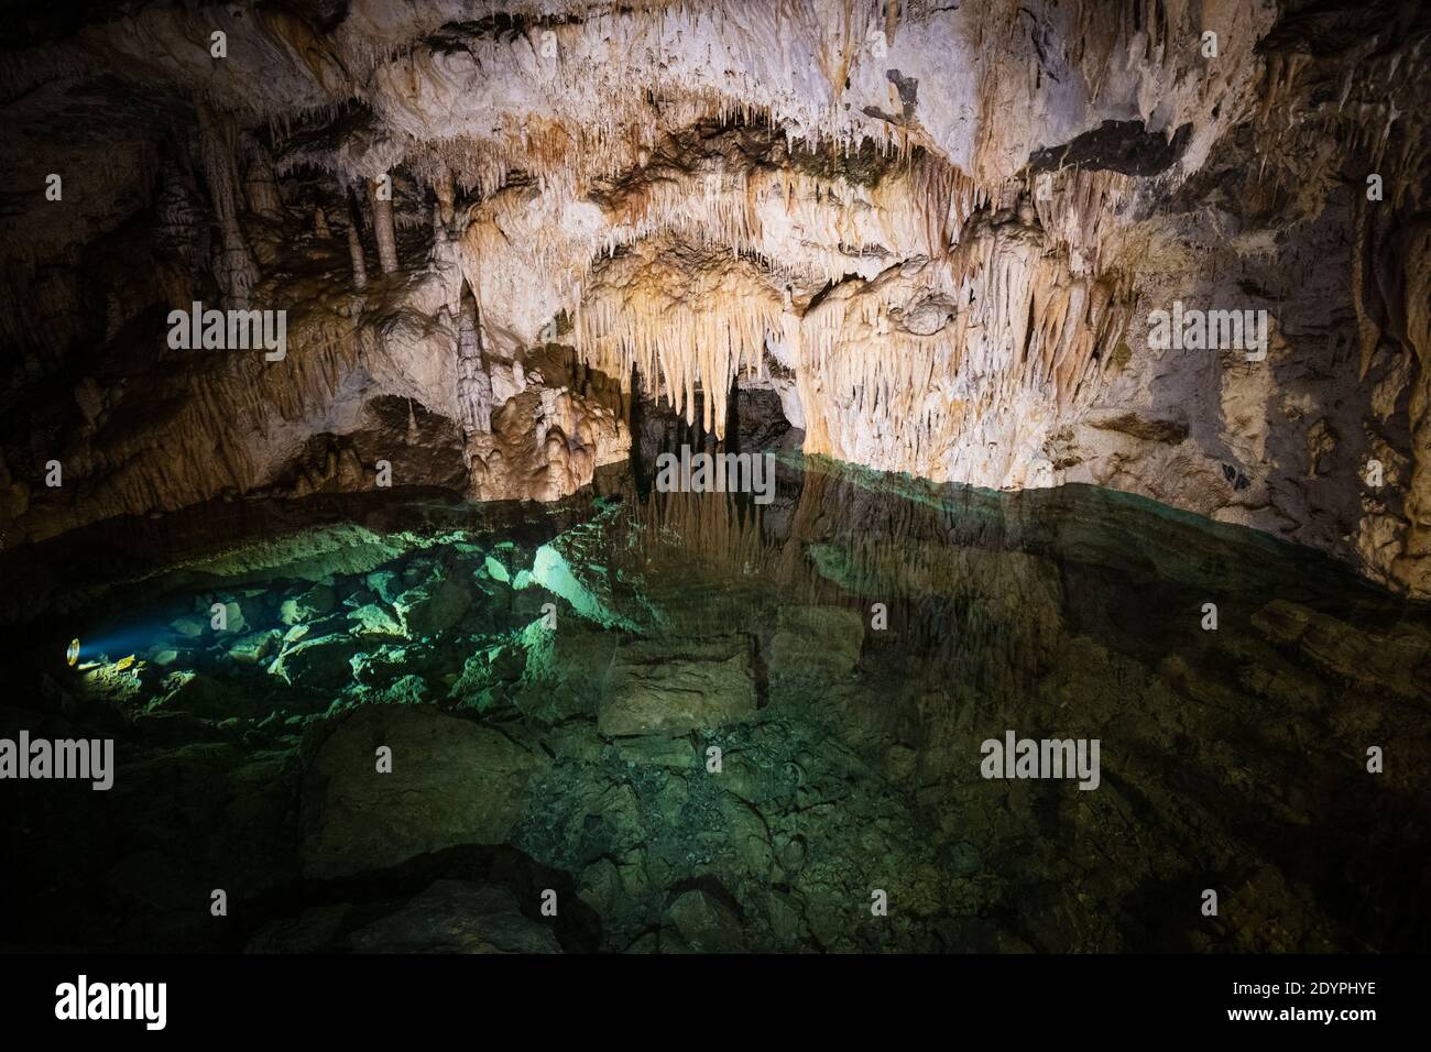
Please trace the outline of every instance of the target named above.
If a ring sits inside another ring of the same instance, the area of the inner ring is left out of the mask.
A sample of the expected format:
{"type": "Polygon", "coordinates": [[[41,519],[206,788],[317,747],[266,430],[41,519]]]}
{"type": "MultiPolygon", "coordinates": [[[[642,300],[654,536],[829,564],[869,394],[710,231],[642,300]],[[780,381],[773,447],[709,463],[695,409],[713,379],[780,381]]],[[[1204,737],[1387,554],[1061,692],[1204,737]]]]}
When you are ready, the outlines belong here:
{"type": "Polygon", "coordinates": [[[469,206],[464,266],[478,296],[517,272],[541,286],[545,302],[578,303],[592,268],[667,236],[763,260],[777,288],[819,288],[909,256],[942,258],[989,202],[972,179],[930,157],[896,165],[873,185],[794,165],[703,162],[653,166],[622,186],[604,208],[532,185],[469,206]]]}

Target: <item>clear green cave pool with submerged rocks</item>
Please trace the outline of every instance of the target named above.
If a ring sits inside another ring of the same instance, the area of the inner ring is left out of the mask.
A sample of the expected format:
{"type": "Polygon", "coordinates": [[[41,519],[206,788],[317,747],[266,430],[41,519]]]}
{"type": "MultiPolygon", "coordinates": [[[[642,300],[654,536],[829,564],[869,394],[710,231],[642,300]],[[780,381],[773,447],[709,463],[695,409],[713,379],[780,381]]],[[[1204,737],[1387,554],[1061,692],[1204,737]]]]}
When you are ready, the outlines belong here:
{"type": "Polygon", "coordinates": [[[1431,618],[1309,550],[794,454],[764,508],[313,500],[6,565],[0,731],[117,743],[10,786],[7,949],[1428,945],[1431,618]],[[982,779],[1010,729],[1100,784],[982,779]]]}

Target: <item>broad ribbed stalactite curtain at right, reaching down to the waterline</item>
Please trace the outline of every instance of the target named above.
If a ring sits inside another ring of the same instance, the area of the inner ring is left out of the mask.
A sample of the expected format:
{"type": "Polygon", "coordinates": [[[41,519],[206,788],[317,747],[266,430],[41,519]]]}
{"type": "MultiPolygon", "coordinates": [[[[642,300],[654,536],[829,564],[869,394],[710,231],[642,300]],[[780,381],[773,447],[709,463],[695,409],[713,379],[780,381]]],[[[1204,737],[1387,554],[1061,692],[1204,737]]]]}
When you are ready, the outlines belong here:
{"type": "Polygon", "coordinates": [[[1073,275],[1016,223],[916,273],[850,282],[787,326],[806,451],[859,459],[850,435],[873,432],[884,465],[943,477],[969,421],[1095,392],[1126,308],[1119,282],[1073,275]]]}

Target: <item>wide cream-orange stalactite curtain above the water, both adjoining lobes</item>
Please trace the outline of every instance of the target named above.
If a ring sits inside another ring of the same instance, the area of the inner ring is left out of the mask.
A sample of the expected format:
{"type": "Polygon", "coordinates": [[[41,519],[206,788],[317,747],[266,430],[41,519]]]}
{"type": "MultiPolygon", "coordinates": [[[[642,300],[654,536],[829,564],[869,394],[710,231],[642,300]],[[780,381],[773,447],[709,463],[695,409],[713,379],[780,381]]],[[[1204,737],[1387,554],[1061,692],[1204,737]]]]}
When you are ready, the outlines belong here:
{"type": "Polygon", "coordinates": [[[927,465],[964,422],[1029,395],[1065,406],[1092,394],[1120,339],[1129,295],[1110,275],[1075,273],[1036,226],[976,223],[946,258],[846,281],[800,311],[753,262],[643,242],[595,275],[577,318],[578,352],[610,375],[721,431],[726,391],[758,374],[767,341],[797,362],[807,451],[849,452],[840,421],[927,465]]]}

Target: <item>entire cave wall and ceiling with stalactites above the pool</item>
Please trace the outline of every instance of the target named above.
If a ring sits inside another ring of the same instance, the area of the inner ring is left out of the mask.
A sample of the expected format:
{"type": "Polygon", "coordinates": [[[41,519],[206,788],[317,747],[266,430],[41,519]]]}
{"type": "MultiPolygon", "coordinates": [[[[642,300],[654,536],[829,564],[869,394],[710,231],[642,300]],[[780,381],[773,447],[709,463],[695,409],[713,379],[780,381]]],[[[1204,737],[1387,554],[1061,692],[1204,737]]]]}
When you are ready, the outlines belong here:
{"type": "Polygon", "coordinates": [[[1431,594],[1428,16],[1285,7],[37,23],[0,79],[34,196],[6,544],[249,494],[550,501],[628,457],[634,398],[720,435],[740,386],[807,452],[1139,492],[1431,594]],[[286,311],[285,358],[166,348],[193,301],[286,311]],[[1162,349],[1173,303],[1265,312],[1265,356],[1162,349]]]}

